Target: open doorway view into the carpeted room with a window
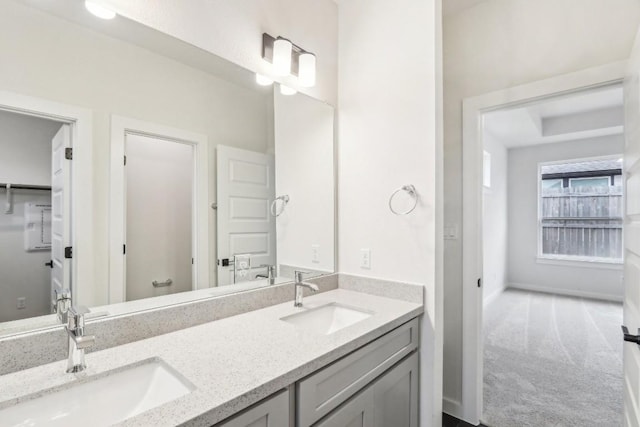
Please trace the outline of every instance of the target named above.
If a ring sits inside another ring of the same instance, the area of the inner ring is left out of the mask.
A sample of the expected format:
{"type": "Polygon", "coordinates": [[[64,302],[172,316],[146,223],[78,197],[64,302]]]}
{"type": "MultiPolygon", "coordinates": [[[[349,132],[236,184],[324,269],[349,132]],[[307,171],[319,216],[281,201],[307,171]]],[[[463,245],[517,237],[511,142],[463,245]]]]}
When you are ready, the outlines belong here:
{"type": "Polygon", "coordinates": [[[481,421],[622,425],[622,87],[481,122],[481,421]]]}

